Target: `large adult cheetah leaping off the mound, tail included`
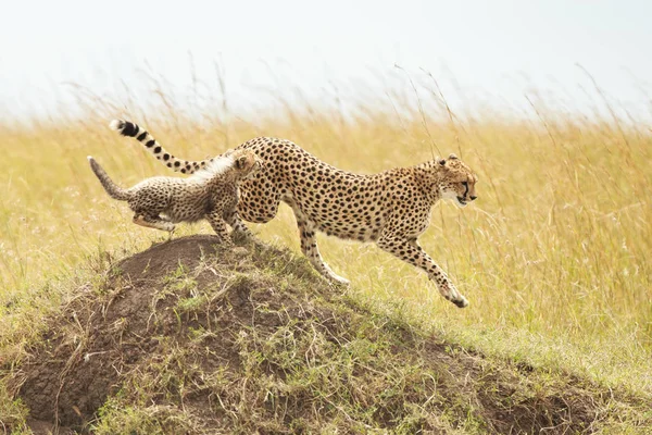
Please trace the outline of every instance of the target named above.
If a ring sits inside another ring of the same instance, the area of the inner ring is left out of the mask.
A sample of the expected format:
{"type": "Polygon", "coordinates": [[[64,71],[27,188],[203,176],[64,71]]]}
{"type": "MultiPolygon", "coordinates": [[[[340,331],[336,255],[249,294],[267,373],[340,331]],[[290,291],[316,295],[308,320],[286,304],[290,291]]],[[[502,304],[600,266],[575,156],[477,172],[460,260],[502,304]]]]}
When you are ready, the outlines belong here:
{"type": "MultiPolygon", "coordinates": [[[[135,123],[114,121],[112,125],[123,136],[139,140],[173,171],[192,174],[213,161],[178,159],[135,123]]],[[[256,137],[236,149],[251,150],[262,161],[261,171],[240,184],[238,214],[249,222],[265,223],[276,215],[280,201],[286,202],[297,217],[301,250],[322,275],[336,283],[349,283],[322,259],[316,231],[344,239],[375,241],[380,249],[425,271],[446,299],[460,308],[468,304],[417,243],[439,199],[449,198],[464,207],[477,198],[477,176],[455,154],[411,167],[359,175],[324,163],[285,139],[256,137]]]]}

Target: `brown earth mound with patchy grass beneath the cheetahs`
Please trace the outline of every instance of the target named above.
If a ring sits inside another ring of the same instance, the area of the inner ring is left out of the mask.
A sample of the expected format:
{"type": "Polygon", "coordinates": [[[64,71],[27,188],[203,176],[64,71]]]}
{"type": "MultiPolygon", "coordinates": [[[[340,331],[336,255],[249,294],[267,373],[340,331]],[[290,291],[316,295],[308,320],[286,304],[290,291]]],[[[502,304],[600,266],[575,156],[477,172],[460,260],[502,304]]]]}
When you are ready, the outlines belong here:
{"type": "Polygon", "coordinates": [[[606,418],[607,391],[427,336],[287,251],[216,243],[180,238],[128,258],[51,320],[20,389],[39,427],[590,433],[606,418]]]}

